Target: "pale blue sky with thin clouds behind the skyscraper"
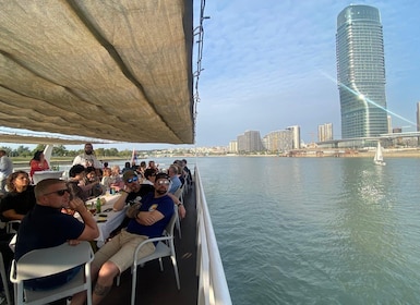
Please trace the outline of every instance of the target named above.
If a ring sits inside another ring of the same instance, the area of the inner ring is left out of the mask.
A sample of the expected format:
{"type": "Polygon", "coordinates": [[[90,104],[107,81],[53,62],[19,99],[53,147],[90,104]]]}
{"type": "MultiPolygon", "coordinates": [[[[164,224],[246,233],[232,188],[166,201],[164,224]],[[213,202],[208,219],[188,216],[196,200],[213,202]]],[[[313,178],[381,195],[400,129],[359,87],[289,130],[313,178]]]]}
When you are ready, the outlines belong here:
{"type": "MultiPolygon", "coordinates": [[[[200,0],[193,1],[196,26],[200,0]]],[[[260,131],[263,137],[290,125],[299,125],[308,143],[316,139],[317,125],[325,123],[333,123],[334,138],[341,138],[335,34],[338,13],[351,3],[381,12],[387,109],[394,127],[415,131],[420,1],[207,0],[195,145],[96,146],[227,146],[245,131],[260,131]]]]}

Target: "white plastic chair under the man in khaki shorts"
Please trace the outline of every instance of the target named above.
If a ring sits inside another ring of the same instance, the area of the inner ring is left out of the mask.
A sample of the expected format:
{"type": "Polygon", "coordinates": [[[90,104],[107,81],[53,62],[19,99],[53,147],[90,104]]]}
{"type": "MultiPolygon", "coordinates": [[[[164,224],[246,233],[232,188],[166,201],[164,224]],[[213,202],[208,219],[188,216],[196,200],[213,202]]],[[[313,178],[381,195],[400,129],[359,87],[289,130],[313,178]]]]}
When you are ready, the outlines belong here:
{"type": "Polygon", "coordinates": [[[135,286],[136,286],[136,280],[137,280],[137,266],[143,265],[147,261],[159,259],[160,264],[160,271],[164,271],[164,265],[161,263],[163,257],[170,256],[172,266],[173,266],[173,272],[175,272],[175,279],[177,281],[177,288],[178,290],[181,289],[179,283],[179,274],[178,274],[178,266],[177,266],[177,257],[175,253],[175,245],[173,245],[173,227],[175,221],[178,218],[178,208],[175,209],[173,216],[171,217],[169,223],[166,227],[166,230],[164,232],[164,236],[161,237],[155,237],[155,239],[148,239],[144,242],[142,242],[134,252],[134,258],[133,258],[133,266],[131,267],[131,273],[132,273],[132,283],[131,283],[131,304],[135,304],[135,286]],[[146,257],[137,258],[140,249],[148,243],[158,242],[156,244],[155,252],[146,257]]]}

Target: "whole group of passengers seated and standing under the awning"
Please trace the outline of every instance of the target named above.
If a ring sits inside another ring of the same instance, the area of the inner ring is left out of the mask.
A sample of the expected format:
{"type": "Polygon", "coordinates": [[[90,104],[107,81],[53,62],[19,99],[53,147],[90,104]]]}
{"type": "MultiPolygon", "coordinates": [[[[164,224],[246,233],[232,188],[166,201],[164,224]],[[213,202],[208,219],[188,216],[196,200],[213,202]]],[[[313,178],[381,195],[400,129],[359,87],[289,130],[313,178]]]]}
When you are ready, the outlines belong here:
{"type": "MultiPolygon", "coordinates": [[[[31,161],[31,173],[49,169],[44,154],[36,154],[31,161]],[[32,167],[34,160],[34,170],[32,167]],[[37,169],[35,169],[37,168],[37,169]]],[[[119,191],[120,197],[113,205],[116,211],[127,209],[127,218],[119,230],[95,254],[92,263],[92,276],[95,282],[93,304],[98,304],[110,291],[113,278],[132,265],[135,247],[147,237],[163,234],[167,223],[178,209],[180,218],[185,217],[185,209],[176,191],[191,179],[187,160],[176,160],[167,171],[161,172],[151,161],[141,163],[120,174],[118,166],[111,169],[96,160],[92,144],[86,144],[84,154],[77,156],[69,171],[68,181],[45,179],[35,186],[32,176],[25,171],[15,171],[8,176],[9,193],[1,199],[0,218],[3,222],[20,220],[15,253],[10,251],[11,234],[3,234],[0,240],[1,253],[7,261],[7,270],[13,258],[19,260],[26,253],[60,245],[69,242],[76,245],[80,241],[93,241],[99,235],[96,221],[85,207],[85,202],[104,194],[110,187],[119,191]],[[97,168],[99,167],[99,168],[97,168]],[[100,171],[99,171],[100,169],[100,171]],[[99,174],[103,174],[101,178],[99,174]],[[189,176],[190,175],[190,176],[189,176]],[[77,211],[79,221],[67,210],[77,211]]],[[[155,249],[153,243],[141,254],[146,256],[155,249]]],[[[25,282],[28,290],[48,290],[71,280],[77,270],[25,282]]],[[[73,295],[71,304],[84,304],[86,293],[73,295]]]]}

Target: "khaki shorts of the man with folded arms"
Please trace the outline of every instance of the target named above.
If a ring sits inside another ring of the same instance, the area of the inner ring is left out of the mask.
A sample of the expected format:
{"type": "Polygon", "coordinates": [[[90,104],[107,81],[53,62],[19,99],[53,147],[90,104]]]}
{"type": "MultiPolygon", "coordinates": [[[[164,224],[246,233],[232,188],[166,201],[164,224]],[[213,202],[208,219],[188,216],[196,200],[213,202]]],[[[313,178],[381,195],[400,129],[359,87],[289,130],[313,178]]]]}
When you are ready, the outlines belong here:
{"type": "MultiPolygon", "coordinates": [[[[133,265],[133,256],[137,245],[147,240],[147,236],[129,233],[122,230],[108,243],[106,243],[97,253],[92,264],[100,269],[105,261],[110,260],[120,269],[120,273],[133,265]]],[[[147,243],[139,252],[139,258],[145,257],[155,252],[155,245],[147,243]]]]}

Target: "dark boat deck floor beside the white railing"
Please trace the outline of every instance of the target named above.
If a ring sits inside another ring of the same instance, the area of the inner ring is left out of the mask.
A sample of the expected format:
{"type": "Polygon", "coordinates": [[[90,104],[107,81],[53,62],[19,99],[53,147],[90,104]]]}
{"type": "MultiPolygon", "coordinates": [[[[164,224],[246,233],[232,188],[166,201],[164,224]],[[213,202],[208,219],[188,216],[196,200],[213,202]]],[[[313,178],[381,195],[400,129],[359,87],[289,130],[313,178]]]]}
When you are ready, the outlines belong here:
{"type": "MultiPolygon", "coordinates": [[[[187,217],[181,221],[182,239],[176,234],[177,263],[181,290],[177,290],[173,268],[170,258],[164,258],[164,271],[160,272],[158,260],[147,263],[137,269],[136,304],[196,304],[199,278],[195,274],[196,266],[196,209],[195,192],[191,187],[184,195],[187,217]]],[[[131,300],[130,269],[121,274],[120,285],[112,286],[101,304],[130,304],[131,300]]]]}

